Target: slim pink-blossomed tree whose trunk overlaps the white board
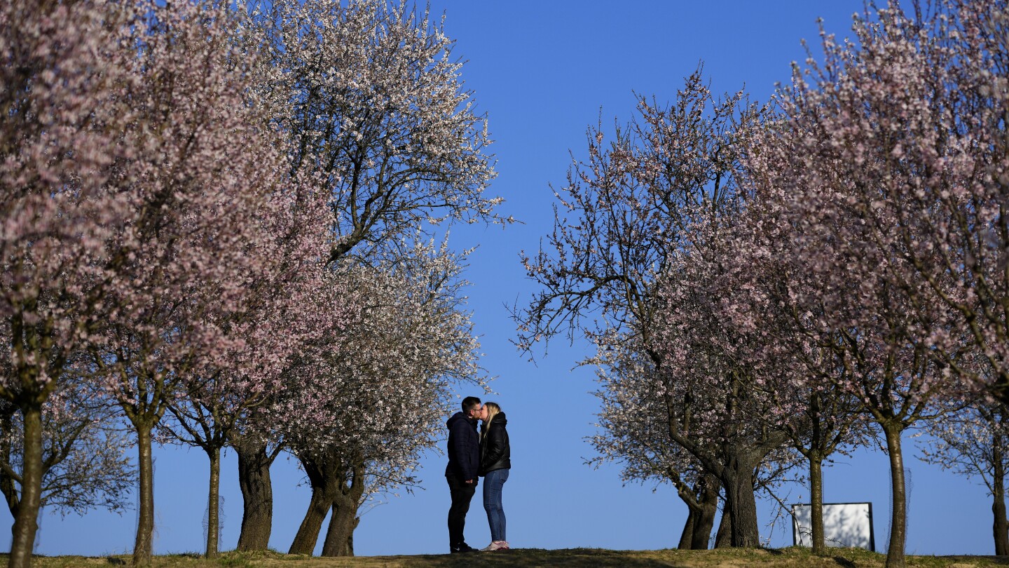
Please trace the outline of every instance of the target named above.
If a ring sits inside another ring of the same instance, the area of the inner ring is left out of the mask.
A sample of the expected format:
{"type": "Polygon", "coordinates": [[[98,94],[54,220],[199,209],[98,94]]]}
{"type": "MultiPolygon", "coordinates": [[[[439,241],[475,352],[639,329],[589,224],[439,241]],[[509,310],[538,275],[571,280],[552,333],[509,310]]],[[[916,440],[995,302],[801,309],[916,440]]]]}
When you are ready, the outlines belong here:
{"type": "MultiPolygon", "coordinates": [[[[750,152],[761,149],[755,143],[750,152]]],[[[823,291],[810,278],[815,271],[796,247],[796,225],[781,217],[763,181],[758,175],[745,182],[733,244],[720,260],[723,282],[712,293],[722,317],[749,337],[738,342],[738,357],[760,377],[750,388],[768,396],[774,409],[754,418],[783,432],[808,463],[811,544],[823,555],[823,464],[835,452],[867,444],[874,432],[848,387],[850,369],[840,355],[848,329],[831,326],[836,322],[826,317],[823,291]]],[[[856,285],[835,293],[854,293],[856,285]]]]}

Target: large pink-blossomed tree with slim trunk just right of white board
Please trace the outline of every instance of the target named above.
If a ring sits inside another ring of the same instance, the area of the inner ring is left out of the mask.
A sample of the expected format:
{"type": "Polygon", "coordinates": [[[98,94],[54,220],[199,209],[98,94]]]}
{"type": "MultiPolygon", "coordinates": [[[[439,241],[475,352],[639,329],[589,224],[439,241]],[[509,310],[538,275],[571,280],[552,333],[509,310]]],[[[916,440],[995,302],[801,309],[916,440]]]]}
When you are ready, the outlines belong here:
{"type": "MultiPolygon", "coordinates": [[[[857,44],[823,33],[823,62],[796,70],[780,94],[782,121],[752,153],[758,183],[817,281],[819,328],[840,334],[839,384],[886,437],[888,566],[904,565],[902,434],[941,411],[931,402],[970,388],[958,376],[992,377],[984,386],[1000,388],[998,350],[986,343],[997,325],[972,311],[986,300],[971,272],[1000,198],[977,193],[993,178],[981,166],[991,162],[972,154],[990,147],[973,132],[991,130],[972,126],[987,115],[964,104],[984,91],[985,73],[971,66],[997,60],[964,51],[987,37],[979,14],[996,5],[939,2],[913,16],[892,5],[856,17],[857,44]]],[[[988,282],[979,286],[997,296],[988,282]]]]}

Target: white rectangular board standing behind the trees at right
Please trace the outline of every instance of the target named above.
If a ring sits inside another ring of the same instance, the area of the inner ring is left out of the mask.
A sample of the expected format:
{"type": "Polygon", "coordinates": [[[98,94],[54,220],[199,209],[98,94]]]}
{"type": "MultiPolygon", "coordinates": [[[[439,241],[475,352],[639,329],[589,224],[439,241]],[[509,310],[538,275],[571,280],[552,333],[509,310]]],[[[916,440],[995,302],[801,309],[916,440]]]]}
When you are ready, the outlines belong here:
{"type": "MultiPolygon", "coordinates": [[[[864,548],[876,552],[872,503],[823,503],[823,537],[828,547],[864,548]]],[[[812,505],[792,505],[792,542],[813,546],[812,505]]]]}

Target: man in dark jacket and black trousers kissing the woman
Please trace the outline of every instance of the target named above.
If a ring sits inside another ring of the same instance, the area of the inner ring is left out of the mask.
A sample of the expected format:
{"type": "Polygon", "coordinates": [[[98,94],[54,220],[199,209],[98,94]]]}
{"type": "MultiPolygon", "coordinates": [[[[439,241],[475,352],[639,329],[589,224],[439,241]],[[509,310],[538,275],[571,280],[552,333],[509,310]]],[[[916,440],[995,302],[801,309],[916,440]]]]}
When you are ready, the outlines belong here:
{"type": "Polygon", "coordinates": [[[452,506],[448,509],[448,543],[452,553],[477,550],[466,544],[462,533],[466,527],[469,501],[476,492],[479,479],[480,436],[476,433],[476,421],[485,417],[485,412],[479,398],[467,396],[462,399],[462,411],[452,414],[445,422],[448,427],[445,478],[452,494],[452,506]]]}

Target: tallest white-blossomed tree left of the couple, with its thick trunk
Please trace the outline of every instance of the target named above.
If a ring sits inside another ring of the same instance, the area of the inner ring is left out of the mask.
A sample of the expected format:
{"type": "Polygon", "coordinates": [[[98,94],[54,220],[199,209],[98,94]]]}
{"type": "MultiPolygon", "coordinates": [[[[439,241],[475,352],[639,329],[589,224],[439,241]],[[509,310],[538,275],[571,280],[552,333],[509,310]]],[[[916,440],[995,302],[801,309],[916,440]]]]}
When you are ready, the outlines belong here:
{"type": "MultiPolygon", "coordinates": [[[[331,270],[409,254],[403,239],[419,229],[510,221],[493,212],[501,199],[485,195],[494,171],[484,119],[452,40],[426,12],[384,0],[244,7],[257,37],[248,49],[266,54],[253,97],[291,141],[292,171],[329,196],[331,270]]],[[[251,414],[258,427],[232,436],[246,514],[239,548],[265,550],[268,468],[284,435],[269,411],[251,414]]]]}

